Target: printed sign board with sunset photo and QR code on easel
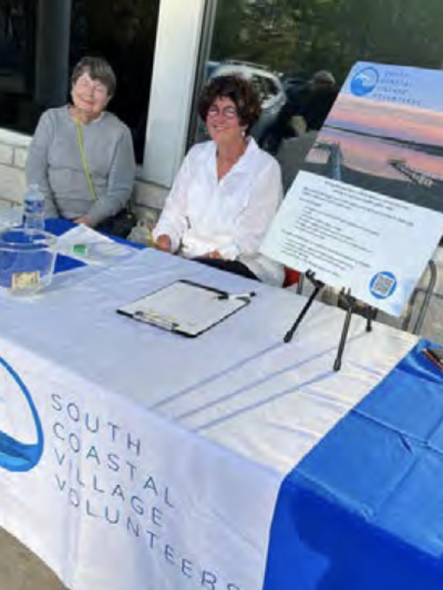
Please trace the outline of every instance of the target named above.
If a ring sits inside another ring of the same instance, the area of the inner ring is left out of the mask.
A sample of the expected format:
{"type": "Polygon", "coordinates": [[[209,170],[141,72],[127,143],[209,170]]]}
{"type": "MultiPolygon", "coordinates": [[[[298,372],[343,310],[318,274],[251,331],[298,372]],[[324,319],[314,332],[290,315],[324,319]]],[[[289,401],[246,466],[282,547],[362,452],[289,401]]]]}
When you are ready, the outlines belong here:
{"type": "Polygon", "coordinates": [[[400,315],[443,235],[443,72],[359,62],[261,251],[400,315]]]}

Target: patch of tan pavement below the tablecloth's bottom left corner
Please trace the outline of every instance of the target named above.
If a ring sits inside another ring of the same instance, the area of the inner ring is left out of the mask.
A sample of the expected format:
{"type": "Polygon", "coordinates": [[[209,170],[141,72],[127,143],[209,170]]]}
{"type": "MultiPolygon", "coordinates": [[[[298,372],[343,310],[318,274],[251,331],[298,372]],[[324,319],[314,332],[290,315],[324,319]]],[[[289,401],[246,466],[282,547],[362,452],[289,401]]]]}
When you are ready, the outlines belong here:
{"type": "Polygon", "coordinates": [[[56,576],[0,528],[0,590],[66,590],[56,576]]]}

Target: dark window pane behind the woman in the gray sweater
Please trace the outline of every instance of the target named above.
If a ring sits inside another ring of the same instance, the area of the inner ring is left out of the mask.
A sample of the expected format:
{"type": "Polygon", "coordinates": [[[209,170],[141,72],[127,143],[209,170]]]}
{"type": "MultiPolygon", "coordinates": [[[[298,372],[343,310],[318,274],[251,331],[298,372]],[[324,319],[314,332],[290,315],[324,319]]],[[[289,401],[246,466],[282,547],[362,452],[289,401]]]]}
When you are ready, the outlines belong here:
{"type": "Polygon", "coordinates": [[[33,133],[40,114],[69,100],[73,65],[103,55],[115,70],[110,111],[143,158],[161,0],[0,0],[0,126],[33,133]]]}

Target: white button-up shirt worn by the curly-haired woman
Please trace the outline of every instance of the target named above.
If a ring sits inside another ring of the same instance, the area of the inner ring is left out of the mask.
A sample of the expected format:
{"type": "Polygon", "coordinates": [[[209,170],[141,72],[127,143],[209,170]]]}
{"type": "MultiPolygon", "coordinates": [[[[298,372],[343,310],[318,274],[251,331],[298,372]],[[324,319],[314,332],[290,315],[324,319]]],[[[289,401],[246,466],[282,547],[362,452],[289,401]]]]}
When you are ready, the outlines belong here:
{"type": "Polygon", "coordinates": [[[265,282],[281,284],[281,265],[258,252],[281,198],[280,167],[253,138],[220,180],[216,144],[197,144],[182,164],[154,238],[167,235],[173,251],[181,248],[189,258],[218,250],[265,282]]]}

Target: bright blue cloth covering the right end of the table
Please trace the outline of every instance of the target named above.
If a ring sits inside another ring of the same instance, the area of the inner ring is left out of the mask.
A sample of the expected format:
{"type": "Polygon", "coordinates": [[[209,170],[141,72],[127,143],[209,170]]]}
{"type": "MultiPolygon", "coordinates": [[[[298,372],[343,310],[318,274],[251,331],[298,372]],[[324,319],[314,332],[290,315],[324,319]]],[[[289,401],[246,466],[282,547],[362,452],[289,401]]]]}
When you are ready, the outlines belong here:
{"type": "Polygon", "coordinates": [[[427,345],[285,478],[264,590],[443,590],[443,372],[427,345]]]}

